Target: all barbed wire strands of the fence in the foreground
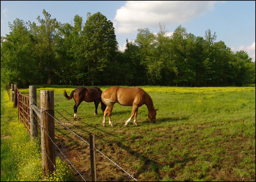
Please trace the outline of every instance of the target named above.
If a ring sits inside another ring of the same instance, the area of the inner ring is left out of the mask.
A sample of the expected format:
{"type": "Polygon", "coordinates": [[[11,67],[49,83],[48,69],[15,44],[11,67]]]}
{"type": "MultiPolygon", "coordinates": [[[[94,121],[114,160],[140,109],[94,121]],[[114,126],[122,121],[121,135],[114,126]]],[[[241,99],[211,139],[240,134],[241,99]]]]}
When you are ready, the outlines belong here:
{"type": "MultiPolygon", "coordinates": [[[[9,92],[8,92],[9,93],[9,92]]],[[[43,110],[39,105],[38,105],[38,103],[32,98],[32,97],[30,97],[35,103],[36,103],[36,106],[40,109],[40,110],[43,110]]],[[[30,108],[31,109],[31,108],[30,108]]],[[[85,142],[87,145],[90,145],[89,144],[89,142],[87,142],[86,140],[84,140],[82,137],[80,137],[78,134],[76,134],[74,131],[72,131],[71,129],[69,129],[67,126],[65,126],[63,123],[61,123],[58,119],[56,119],[56,118],[54,118],[52,115],[50,115],[48,112],[46,112],[45,110],[43,110],[43,112],[45,112],[45,113],[47,113],[50,117],[52,117],[55,121],[57,121],[60,125],[62,125],[63,127],[65,127],[66,129],[68,129],[71,133],[73,133],[73,134],[75,134],[75,136],[77,136],[79,139],[81,139],[82,140],[82,142],[85,142]]],[[[35,115],[34,115],[35,116],[35,115]]],[[[35,118],[37,118],[36,116],[35,116],[35,118]]],[[[37,120],[37,119],[36,119],[37,120]]],[[[32,124],[33,124],[33,122],[31,122],[32,124]]],[[[40,125],[40,122],[37,120],[37,123],[40,125]]],[[[30,127],[35,127],[35,125],[32,125],[32,126],[30,126],[30,127]]],[[[40,128],[43,128],[43,127],[40,127],[40,128]]],[[[43,131],[44,131],[44,133],[51,139],[51,137],[48,135],[48,133],[44,130],[44,128],[43,128],[43,131]]],[[[38,136],[37,136],[38,137],[38,136]]],[[[51,139],[51,141],[52,141],[52,139],[51,139]]],[[[70,162],[70,160],[68,160],[68,157],[60,150],[60,148],[52,141],[52,143],[53,143],[53,145],[56,147],[56,148],[58,148],[58,150],[60,151],[60,153],[63,155],[63,157],[68,161],[68,163],[70,163],[71,164],[71,166],[74,168],[74,170],[77,172],[77,174],[79,174],[80,176],[81,176],[81,178],[84,180],[84,181],[86,181],[85,179],[84,179],[84,177],[81,175],[81,173],[76,169],[76,167],[70,162]]],[[[39,142],[39,145],[40,145],[40,147],[41,147],[41,149],[42,149],[42,146],[41,146],[41,143],[39,142]]],[[[106,159],[108,159],[110,162],[112,162],[113,164],[115,164],[115,166],[116,167],[118,167],[118,168],[120,168],[122,171],[124,171],[127,175],[128,175],[128,177],[130,178],[132,178],[132,179],[134,179],[135,181],[138,181],[137,179],[135,179],[134,177],[133,177],[133,175],[131,174],[132,172],[130,172],[130,173],[128,173],[127,171],[125,171],[121,166],[119,166],[117,163],[115,163],[114,161],[112,161],[111,159],[109,159],[109,157],[108,156],[106,156],[106,155],[104,155],[102,152],[100,152],[100,150],[99,149],[97,149],[97,148],[94,148],[96,151],[98,151],[101,155],[103,155],[106,159]]],[[[45,152],[45,151],[44,151],[45,152]]],[[[46,153],[46,152],[45,152],[46,153]]],[[[47,155],[47,154],[46,154],[47,155]]],[[[38,156],[39,157],[39,156],[38,156]]],[[[50,160],[50,157],[47,155],[47,157],[48,157],[48,159],[50,160]]],[[[51,163],[53,164],[53,162],[51,161],[51,163]]],[[[54,167],[55,168],[55,167],[54,167]]],[[[59,174],[59,172],[57,171],[57,169],[55,168],[55,170],[56,170],[56,172],[59,174]]],[[[47,174],[48,175],[48,174],[47,174]]],[[[60,174],[59,174],[59,176],[60,176],[60,174]]],[[[49,175],[48,175],[48,177],[49,177],[49,175]]],[[[61,178],[61,177],[60,177],[61,178]]],[[[49,179],[50,179],[50,177],[49,177],[49,179]]],[[[61,179],[62,181],[63,181],[63,179],[61,179]]]]}

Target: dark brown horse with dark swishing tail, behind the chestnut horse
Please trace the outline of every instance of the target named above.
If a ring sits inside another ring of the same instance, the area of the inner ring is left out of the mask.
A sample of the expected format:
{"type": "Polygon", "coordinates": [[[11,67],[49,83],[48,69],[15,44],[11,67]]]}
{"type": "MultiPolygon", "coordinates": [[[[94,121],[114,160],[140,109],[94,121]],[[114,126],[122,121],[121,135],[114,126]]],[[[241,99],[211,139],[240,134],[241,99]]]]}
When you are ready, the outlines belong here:
{"type": "Polygon", "coordinates": [[[94,88],[86,88],[86,87],[78,87],[75,90],[73,90],[68,96],[66,90],[64,90],[64,96],[70,100],[74,98],[75,105],[74,105],[74,119],[80,119],[77,114],[77,107],[81,104],[81,102],[94,102],[95,105],[95,117],[98,115],[98,105],[101,103],[101,110],[104,113],[104,110],[106,109],[106,105],[101,101],[101,93],[102,91],[98,87],[94,88]]]}

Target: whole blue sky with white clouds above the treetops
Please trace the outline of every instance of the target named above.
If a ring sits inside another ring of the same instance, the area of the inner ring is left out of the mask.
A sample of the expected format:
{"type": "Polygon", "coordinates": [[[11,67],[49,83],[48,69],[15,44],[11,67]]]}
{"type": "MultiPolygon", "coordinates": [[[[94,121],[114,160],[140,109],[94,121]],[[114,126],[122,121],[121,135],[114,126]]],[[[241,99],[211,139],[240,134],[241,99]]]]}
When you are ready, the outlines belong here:
{"type": "Polygon", "coordinates": [[[138,28],[159,32],[159,23],[171,34],[179,25],[187,33],[204,37],[216,32],[232,51],[245,50],[255,61],[255,1],[1,1],[1,36],[9,34],[8,22],[16,18],[38,22],[43,9],[61,23],[72,23],[77,14],[100,12],[115,27],[119,49],[134,41],[138,28]]]}

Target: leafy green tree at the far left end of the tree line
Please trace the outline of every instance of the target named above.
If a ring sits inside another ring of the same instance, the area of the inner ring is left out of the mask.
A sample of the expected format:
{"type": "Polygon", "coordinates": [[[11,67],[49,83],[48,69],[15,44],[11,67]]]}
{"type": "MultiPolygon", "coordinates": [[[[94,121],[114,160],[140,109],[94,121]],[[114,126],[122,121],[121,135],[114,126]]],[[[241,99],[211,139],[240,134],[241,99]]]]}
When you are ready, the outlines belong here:
{"type": "Polygon", "coordinates": [[[1,83],[26,86],[36,79],[35,41],[23,20],[15,19],[9,27],[10,34],[1,37],[1,83]]]}

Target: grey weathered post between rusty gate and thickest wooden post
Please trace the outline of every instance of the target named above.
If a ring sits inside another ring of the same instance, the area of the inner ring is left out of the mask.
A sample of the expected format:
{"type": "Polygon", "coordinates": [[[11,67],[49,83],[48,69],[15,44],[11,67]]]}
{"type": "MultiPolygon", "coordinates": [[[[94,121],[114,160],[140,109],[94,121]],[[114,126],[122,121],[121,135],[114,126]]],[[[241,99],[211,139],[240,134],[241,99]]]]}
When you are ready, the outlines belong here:
{"type": "Polygon", "coordinates": [[[30,111],[30,138],[31,140],[37,137],[37,114],[33,110],[36,105],[36,86],[29,86],[29,111],[30,111]]]}

